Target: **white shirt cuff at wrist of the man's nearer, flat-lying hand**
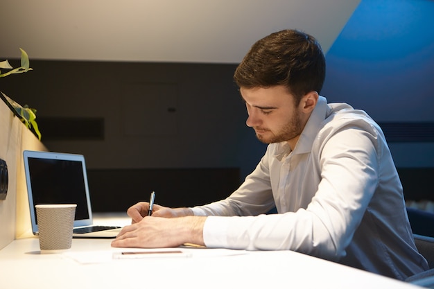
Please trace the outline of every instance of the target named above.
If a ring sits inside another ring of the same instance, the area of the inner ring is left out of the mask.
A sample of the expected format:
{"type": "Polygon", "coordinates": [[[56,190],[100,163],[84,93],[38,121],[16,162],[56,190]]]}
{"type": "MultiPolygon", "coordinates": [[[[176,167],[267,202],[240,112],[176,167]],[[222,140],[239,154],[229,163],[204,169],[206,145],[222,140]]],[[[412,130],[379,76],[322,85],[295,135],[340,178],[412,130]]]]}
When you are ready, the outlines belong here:
{"type": "Polygon", "coordinates": [[[205,246],[215,248],[227,248],[227,217],[209,216],[203,226],[203,241],[205,246]]]}

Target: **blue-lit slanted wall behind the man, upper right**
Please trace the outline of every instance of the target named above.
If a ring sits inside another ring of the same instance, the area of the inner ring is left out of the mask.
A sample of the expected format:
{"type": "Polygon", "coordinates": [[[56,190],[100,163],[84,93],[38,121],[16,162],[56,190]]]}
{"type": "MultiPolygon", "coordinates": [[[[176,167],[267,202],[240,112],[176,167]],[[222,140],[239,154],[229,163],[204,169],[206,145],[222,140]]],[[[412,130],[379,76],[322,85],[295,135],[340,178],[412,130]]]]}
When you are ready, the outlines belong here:
{"type": "Polygon", "coordinates": [[[434,1],[363,0],[327,53],[322,95],[376,121],[434,121],[434,1]]]}

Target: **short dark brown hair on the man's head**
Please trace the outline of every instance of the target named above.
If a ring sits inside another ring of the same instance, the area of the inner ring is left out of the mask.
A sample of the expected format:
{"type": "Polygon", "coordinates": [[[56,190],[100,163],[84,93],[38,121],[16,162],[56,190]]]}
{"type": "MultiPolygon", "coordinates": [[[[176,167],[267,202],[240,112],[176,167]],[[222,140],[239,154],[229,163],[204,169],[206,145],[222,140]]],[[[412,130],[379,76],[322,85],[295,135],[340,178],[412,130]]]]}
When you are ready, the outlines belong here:
{"type": "Polygon", "coordinates": [[[234,80],[238,87],[284,85],[296,104],[305,94],[322,89],[325,58],[314,37],[299,30],[281,30],[253,44],[238,65],[234,80]]]}

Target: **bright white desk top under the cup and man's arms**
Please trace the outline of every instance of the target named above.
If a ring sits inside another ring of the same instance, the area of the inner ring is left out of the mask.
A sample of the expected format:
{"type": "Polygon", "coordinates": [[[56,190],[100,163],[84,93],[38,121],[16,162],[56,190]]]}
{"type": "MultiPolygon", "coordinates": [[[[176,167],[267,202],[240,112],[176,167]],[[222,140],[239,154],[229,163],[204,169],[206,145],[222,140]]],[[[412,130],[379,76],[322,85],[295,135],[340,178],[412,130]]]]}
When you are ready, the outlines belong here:
{"type": "Polygon", "coordinates": [[[290,251],[186,249],[192,256],[117,260],[112,252],[123,249],[110,242],[73,239],[65,253],[40,254],[37,238],[14,240],[0,251],[0,288],[418,288],[290,251]],[[71,258],[98,254],[109,258],[71,258]]]}

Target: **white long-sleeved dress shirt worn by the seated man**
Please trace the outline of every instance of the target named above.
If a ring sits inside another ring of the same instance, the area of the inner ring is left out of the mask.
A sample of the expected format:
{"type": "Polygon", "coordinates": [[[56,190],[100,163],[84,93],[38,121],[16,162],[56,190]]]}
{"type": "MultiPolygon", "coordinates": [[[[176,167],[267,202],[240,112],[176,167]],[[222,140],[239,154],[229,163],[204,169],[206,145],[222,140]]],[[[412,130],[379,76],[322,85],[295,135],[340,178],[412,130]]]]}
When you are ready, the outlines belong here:
{"type": "Polygon", "coordinates": [[[232,195],[191,209],[209,216],[208,247],[290,249],[397,279],[428,269],[379,125],[322,96],[293,151],[271,143],[232,195]]]}

